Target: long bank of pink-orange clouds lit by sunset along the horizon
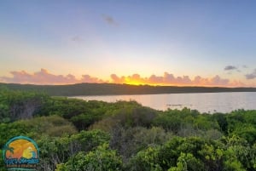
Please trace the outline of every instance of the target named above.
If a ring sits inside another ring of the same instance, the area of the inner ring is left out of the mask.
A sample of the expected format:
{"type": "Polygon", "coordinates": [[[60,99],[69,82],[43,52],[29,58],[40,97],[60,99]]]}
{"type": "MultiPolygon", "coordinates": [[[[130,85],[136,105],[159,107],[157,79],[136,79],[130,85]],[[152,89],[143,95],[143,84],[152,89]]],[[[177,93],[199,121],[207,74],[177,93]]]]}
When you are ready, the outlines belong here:
{"type": "MultiPolygon", "coordinates": [[[[131,76],[118,76],[112,74],[109,80],[102,80],[98,77],[91,77],[88,74],[80,78],[68,74],[67,76],[55,75],[41,69],[34,73],[27,71],[11,71],[12,77],[0,77],[3,83],[32,83],[32,84],[73,84],[73,83],[127,83],[127,84],[149,84],[149,85],[172,85],[172,86],[207,86],[207,87],[245,87],[244,83],[231,81],[230,79],[219,77],[201,77],[189,76],[176,77],[171,73],[165,72],[162,76],[151,75],[150,77],[141,77],[139,74],[131,76]]],[[[256,77],[256,69],[253,73],[246,75],[247,79],[256,77]]]]}

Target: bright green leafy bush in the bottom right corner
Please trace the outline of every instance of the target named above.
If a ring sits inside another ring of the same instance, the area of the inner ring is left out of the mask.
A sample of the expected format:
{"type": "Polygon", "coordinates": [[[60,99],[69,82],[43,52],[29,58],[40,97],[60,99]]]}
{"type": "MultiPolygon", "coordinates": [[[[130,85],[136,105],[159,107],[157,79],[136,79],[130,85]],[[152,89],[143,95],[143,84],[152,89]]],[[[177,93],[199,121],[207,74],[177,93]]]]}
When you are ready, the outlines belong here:
{"type": "Polygon", "coordinates": [[[237,137],[218,141],[174,137],[164,145],[139,151],[131,159],[130,170],[255,170],[255,150],[255,145],[237,137]]]}

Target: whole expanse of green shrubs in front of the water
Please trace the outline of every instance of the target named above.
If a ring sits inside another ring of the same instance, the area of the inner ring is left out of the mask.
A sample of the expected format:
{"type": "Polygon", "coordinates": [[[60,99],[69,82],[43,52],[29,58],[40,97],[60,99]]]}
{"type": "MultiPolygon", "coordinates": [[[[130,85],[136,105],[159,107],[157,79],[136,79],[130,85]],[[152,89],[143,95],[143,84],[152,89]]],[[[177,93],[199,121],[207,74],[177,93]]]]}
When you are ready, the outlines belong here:
{"type": "Polygon", "coordinates": [[[0,145],[17,135],[38,143],[42,171],[256,170],[255,110],[156,111],[0,88],[0,145]]]}

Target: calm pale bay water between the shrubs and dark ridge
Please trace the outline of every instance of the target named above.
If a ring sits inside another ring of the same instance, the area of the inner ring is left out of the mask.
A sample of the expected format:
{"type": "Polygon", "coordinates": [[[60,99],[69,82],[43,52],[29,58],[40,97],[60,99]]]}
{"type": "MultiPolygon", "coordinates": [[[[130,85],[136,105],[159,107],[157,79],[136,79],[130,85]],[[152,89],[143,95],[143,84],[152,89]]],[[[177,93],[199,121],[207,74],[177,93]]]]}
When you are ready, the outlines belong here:
{"type": "Polygon", "coordinates": [[[201,112],[230,112],[237,109],[256,110],[256,92],[207,93],[207,94],[140,94],[76,96],[82,100],[136,100],[156,110],[183,109],[188,107],[201,112]]]}

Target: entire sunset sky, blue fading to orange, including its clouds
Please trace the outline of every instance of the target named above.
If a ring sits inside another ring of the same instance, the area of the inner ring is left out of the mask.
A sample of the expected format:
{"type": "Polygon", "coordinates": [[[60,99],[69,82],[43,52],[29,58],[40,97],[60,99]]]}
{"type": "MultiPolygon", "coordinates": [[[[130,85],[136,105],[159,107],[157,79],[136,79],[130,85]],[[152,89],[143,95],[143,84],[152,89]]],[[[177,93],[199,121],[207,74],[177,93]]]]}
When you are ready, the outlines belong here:
{"type": "Polygon", "coordinates": [[[256,87],[256,1],[1,0],[0,82],[256,87]]]}

